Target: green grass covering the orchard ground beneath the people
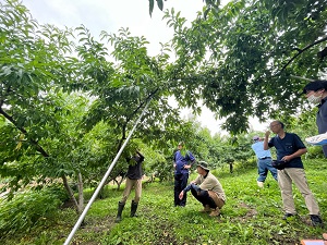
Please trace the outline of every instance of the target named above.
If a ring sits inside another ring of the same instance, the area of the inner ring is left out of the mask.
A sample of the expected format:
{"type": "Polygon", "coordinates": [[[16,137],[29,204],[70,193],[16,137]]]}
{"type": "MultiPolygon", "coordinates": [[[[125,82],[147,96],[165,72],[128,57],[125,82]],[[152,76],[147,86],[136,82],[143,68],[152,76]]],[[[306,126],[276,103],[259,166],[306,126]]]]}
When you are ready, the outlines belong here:
{"type": "MultiPolygon", "coordinates": [[[[327,220],[327,162],[325,159],[304,161],[307,181],[327,220]]],[[[118,201],[123,192],[116,186],[106,189],[106,199],[98,199],[89,209],[84,224],[71,244],[300,244],[301,238],[320,238],[326,228],[310,223],[301,194],[293,193],[299,217],[288,222],[282,218],[280,191],[271,175],[265,188],[256,185],[254,166],[215,170],[226,195],[227,204],[218,218],[201,213],[202,206],[192,195],[185,208],[173,207],[173,183],[146,183],[137,209],[138,217],[130,218],[131,194],[123,220],[116,224],[118,201]]],[[[193,180],[192,174],[190,180],[193,180]]],[[[295,188],[294,188],[295,189],[295,188]]],[[[90,197],[92,193],[85,193],[90,197]]],[[[78,217],[71,209],[57,213],[53,222],[35,225],[29,232],[0,238],[1,244],[63,244],[78,217]]]]}

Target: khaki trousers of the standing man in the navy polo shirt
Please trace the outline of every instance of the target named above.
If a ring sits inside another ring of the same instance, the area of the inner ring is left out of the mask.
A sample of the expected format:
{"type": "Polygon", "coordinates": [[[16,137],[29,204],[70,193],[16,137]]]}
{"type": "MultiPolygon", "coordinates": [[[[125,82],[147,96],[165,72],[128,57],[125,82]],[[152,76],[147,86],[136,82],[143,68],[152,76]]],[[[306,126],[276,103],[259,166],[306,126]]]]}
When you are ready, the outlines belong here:
{"type": "Polygon", "coordinates": [[[305,172],[303,169],[299,168],[287,168],[283,170],[278,170],[278,184],[281,191],[284,212],[292,215],[296,213],[292,194],[292,182],[302,194],[310,215],[319,215],[319,207],[308,188],[305,172]]]}

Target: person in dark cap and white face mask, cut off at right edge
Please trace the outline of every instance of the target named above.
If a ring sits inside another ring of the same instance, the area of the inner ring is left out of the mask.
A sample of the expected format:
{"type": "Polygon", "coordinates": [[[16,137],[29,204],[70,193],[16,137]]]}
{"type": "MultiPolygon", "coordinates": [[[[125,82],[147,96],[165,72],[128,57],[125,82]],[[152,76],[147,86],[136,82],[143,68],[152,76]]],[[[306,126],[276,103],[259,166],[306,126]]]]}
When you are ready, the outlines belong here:
{"type": "MultiPolygon", "coordinates": [[[[310,82],[303,88],[307,101],[318,106],[318,112],[316,114],[316,124],[319,134],[327,133],[327,81],[314,81],[310,82]]],[[[326,138],[320,138],[326,139],[326,138]]],[[[323,151],[327,158],[327,145],[323,146],[323,151]]]]}

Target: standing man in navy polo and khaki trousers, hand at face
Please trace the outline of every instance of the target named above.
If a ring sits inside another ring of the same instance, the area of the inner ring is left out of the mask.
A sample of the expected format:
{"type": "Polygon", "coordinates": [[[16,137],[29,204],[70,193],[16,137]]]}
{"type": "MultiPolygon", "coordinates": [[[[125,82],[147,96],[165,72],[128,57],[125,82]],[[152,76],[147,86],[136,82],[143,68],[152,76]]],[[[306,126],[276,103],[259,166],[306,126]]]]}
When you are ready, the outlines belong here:
{"type": "Polygon", "coordinates": [[[278,170],[278,184],[281,191],[281,198],[284,209],[284,217],[295,216],[295,205],[292,194],[292,183],[299,188],[304,197],[306,208],[310,211],[313,225],[322,225],[323,221],[319,217],[319,207],[308,188],[301,156],[306,152],[306,147],[296,134],[286,133],[283,123],[274,121],[270,123],[270,131],[277,134],[268,142],[270,131],[266,132],[264,140],[264,149],[275,147],[277,151],[277,160],[286,162],[284,168],[278,170]]]}

